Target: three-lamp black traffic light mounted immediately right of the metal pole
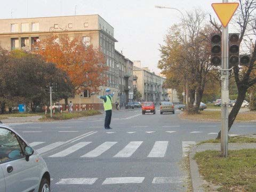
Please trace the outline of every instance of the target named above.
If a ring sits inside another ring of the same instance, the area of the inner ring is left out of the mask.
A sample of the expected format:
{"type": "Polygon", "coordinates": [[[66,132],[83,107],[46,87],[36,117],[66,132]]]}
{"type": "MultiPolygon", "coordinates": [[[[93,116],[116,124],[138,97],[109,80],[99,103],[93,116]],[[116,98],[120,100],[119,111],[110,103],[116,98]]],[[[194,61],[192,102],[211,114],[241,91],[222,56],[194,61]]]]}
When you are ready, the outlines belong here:
{"type": "Polygon", "coordinates": [[[228,38],[228,62],[229,66],[236,66],[239,63],[239,34],[229,34],[228,38]]]}

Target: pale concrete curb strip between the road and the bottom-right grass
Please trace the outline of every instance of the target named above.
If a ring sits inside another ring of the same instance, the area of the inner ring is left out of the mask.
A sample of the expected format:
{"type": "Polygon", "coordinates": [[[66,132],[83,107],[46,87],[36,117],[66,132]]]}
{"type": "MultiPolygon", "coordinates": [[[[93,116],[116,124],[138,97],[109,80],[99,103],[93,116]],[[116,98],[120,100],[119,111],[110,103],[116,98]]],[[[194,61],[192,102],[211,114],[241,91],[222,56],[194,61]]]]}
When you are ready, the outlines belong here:
{"type": "Polygon", "coordinates": [[[192,183],[192,191],[193,192],[204,192],[204,189],[203,189],[202,185],[205,182],[200,177],[197,163],[196,163],[195,159],[193,159],[195,154],[196,154],[196,146],[193,146],[190,149],[190,153],[188,155],[190,178],[191,178],[191,183],[192,183]]]}

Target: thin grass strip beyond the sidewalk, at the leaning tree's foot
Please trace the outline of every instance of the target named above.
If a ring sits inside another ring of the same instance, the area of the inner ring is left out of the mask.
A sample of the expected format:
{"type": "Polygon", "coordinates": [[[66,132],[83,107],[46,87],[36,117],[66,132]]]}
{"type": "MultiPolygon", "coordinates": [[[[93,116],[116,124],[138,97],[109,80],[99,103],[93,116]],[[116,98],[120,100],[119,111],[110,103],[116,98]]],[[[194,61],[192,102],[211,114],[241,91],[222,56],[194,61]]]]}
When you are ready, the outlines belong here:
{"type": "MultiPolygon", "coordinates": [[[[235,136],[228,139],[229,143],[256,143],[256,137],[246,137],[246,136],[235,136]]],[[[220,139],[209,139],[206,141],[199,142],[197,145],[203,143],[220,143],[220,139]]]]}

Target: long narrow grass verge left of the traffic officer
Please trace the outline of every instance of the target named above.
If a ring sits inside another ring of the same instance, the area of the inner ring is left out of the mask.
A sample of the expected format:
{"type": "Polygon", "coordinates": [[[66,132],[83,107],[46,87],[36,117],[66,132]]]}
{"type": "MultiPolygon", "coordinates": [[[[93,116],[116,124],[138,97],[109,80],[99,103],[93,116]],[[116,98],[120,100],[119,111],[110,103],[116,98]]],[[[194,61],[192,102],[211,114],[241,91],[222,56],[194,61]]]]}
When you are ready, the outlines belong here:
{"type": "Polygon", "coordinates": [[[52,118],[50,114],[46,114],[46,115],[43,115],[43,117],[39,120],[40,121],[66,120],[66,119],[73,119],[73,118],[100,115],[100,114],[101,114],[100,111],[97,111],[97,110],[86,110],[78,113],[57,113],[52,115],[52,118]]]}

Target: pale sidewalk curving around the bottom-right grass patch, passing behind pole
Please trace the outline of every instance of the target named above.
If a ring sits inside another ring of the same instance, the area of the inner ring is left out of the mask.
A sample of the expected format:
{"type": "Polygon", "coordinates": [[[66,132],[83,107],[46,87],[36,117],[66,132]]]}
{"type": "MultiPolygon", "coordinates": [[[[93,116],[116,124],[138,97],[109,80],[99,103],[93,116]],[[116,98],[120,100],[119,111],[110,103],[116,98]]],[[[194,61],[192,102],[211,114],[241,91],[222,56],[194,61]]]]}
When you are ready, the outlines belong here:
{"type": "MultiPolygon", "coordinates": [[[[228,143],[229,150],[239,150],[239,149],[254,149],[256,148],[256,143],[228,143]]],[[[189,165],[190,165],[190,177],[192,183],[192,191],[194,192],[204,192],[203,185],[210,185],[210,183],[203,180],[201,175],[199,174],[197,163],[194,159],[194,155],[196,152],[201,152],[205,150],[220,150],[220,143],[204,143],[199,146],[194,146],[191,148],[189,153],[189,165]]],[[[211,192],[217,191],[213,189],[211,192]]],[[[215,186],[216,187],[216,186],[215,186]]]]}

